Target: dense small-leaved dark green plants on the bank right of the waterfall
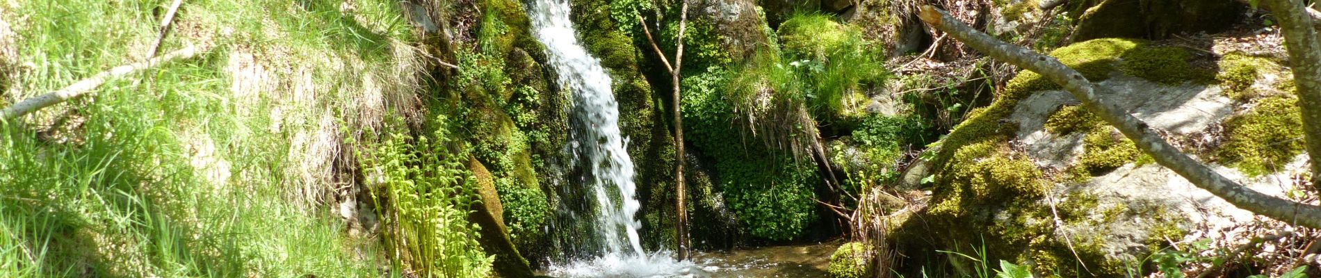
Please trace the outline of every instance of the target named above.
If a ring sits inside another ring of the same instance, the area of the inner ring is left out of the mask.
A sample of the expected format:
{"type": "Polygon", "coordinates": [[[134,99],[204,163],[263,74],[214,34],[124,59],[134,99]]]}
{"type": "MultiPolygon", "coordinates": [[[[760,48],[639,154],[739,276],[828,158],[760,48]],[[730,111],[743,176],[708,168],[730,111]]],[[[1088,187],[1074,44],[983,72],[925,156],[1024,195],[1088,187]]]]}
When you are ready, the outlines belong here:
{"type": "Polygon", "coordinates": [[[724,96],[728,71],[709,67],[684,78],[687,140],[715,161],[717,188],[746,231],[757,237],[791,240],[816,219],[816,171],[806,161],[773,153],[736,123],[724,96]]]}

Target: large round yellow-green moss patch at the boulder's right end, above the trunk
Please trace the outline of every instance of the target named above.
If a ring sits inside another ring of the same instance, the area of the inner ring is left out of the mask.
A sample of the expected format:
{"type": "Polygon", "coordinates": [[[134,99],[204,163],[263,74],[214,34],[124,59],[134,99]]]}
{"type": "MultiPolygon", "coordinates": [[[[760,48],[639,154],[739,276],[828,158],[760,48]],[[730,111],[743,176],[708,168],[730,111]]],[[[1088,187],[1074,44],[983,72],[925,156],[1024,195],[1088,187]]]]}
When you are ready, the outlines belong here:
{"type": "Polygon", "coordinates": [[[1303,153],[1303,121],[1297,99],[1260,99],[1251,111],[1225,123],[1221,161],[1250,175],[1269,174],[1303,153]]]}

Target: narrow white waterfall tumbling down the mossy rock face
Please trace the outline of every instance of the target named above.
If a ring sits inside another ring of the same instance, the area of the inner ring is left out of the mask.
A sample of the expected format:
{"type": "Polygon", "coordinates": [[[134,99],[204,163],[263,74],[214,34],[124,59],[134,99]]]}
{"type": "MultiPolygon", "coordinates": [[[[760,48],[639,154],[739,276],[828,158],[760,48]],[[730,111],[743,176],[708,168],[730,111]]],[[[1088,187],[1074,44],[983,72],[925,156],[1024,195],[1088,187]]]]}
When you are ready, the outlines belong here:
{"type": "MultiPolygon", "coordinates": [[[[569,21],[567,0],[536,0],[530,13],[536,38],[546,45],[550,65],[559,72],[559,86],[573,94],[572,113],[577,125],[573,165],[589,175],[585,188],[596,202],[596,236],[600,257],[551,266],[565,277],[659,277],[687,274],[692,264],[676,262],[667,253],[642,250],[633,219],[641,204],[634,198],[633,161],[627,140],[620,133],[618,103],[610,90],[610,75],[601,62],[579,43],[569,21]]],[[[579,220],[581,221],[581,220],[579,220]]]]}

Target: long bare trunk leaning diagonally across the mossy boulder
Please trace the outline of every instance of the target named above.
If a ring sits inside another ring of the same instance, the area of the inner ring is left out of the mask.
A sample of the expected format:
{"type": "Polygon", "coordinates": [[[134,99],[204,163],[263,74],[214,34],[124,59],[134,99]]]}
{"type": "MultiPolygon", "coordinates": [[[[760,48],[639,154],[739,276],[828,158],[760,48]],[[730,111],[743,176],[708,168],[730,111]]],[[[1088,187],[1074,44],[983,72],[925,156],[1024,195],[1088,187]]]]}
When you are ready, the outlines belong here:
{"type": "MultiPolygon", "coordinates": [[[[1201,162],[1197,162],[1196,159],[1181,153],[1174,146],[1170,146],[1169,142],[1156,133],[1156,130],[1152,130],[1147,123],[1123,112],[1123,109],[1118,108],[1112,103],[1102,101],[1098,95],[1106,95],[1104,87],[1092,84],[1087,80],[1087,78],[1083,78],[1082,74],[1078,74],[1078,71],[1059,63],[1058,59],[1042,55],[1029,49],[1005,43],[995,37],[972,29],[971,26],[960,22],[943,11],[933,8],[931,5],[922,5],[919,17],[933,28],[946,32],[963,43],[995,57],[996,59],[1034,71],[1052,82],[1063,86],[1065,90],[1082,101],[1089,111],[1118,128],[1128,138],[1133,140],[1137,148],[1147,154],[1151,154],[1157,163],[1173,170],[1178,175],[1182,175],[1194,186],[1215,194],[1235,207],[1280,221],[1310,228],[1321,228],[1321,207],[1256,192],[1234,181],[1230,181],[1229,178],[1225,178],[1219,173],[1215,173],[1210,167],[1206,167],[1201,162]]],[[[1293,18],[1281,18],[1281,21],[1283,20],[1293,18]]],[[[1301,80],[1305,80],[1306,76],[1299,79],[1300,83],[1304,83],[1301,80]]]]}

